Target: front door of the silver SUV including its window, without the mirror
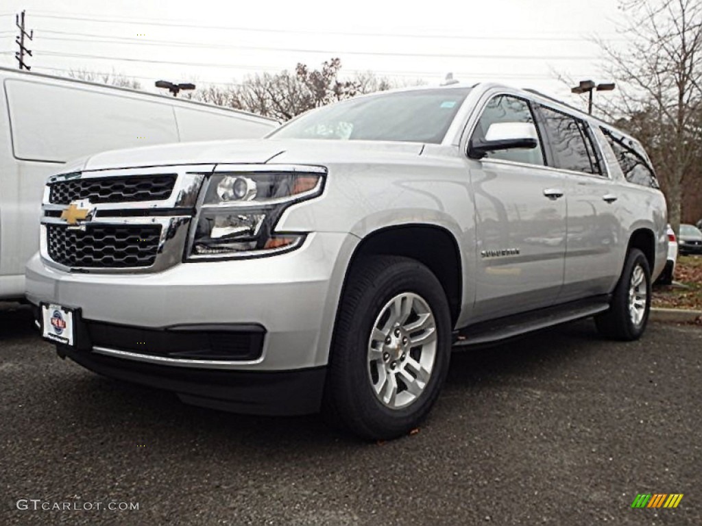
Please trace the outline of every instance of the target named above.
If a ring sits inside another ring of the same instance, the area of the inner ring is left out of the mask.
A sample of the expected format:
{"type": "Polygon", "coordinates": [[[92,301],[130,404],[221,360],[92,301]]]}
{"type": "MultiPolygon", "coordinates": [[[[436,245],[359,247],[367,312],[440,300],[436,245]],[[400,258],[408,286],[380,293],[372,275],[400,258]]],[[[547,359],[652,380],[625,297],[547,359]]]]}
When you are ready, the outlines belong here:
{"type": "MultiPolygon", "coordinates": [[[[529,101],[496,94],[481,110],[472,140],[497,122],[534,123],[529,101]]],[[[535,135],[536,128],[534,129],[535,135]]],[[[562,177],[533,149],[493,151],[466,159],[477,237],[472,321],[553,304],[563,283],[566,204],[562,177]]]]}

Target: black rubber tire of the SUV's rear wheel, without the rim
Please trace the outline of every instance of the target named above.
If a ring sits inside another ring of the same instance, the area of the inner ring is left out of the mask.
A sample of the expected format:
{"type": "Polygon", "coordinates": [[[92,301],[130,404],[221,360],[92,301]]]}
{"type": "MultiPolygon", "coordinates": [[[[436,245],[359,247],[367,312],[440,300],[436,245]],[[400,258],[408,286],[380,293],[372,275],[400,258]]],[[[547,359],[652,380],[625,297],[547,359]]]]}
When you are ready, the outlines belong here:
{"type": "Polygon", "coordinates": [[[614,288],[609,310],[595,316],[597,330],[604,337],[630,342],[639,339],[646,330],[651,310],[651,270],[649,262],[644,253],[637,248],[633,248],[627,255],[621,277],[614,288]],[[646,299],[644,302],[643,317],[639,323],[635,323],[630,313],[630,284],[635,269],[640,267],[643,271],[644,290],[646,299]]]}

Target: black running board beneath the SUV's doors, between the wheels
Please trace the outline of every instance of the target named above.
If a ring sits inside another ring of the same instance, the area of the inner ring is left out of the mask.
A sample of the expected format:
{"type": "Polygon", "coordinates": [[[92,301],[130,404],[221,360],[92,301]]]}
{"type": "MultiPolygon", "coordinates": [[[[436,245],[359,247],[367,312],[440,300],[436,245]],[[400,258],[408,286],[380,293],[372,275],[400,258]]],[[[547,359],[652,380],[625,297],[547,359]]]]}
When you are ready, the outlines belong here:
{"type": "Polygon", "coordinates": [[[569,321],[588,318],[609,309],[609,295],[597,296],[577,302],[560,304],[529,311],[527,313],[505,316],[496,320],[468,325],[453,333],[453,347],[491,344],[504,339],[527,334],[566,323],[569,321]]]}

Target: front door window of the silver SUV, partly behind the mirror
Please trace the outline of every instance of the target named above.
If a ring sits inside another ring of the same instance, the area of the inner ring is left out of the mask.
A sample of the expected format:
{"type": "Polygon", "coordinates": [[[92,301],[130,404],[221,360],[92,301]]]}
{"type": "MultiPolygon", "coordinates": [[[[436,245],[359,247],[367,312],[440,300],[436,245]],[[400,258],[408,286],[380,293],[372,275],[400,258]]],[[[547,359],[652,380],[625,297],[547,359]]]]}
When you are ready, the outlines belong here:
{"type": "MultiPolygon", "coordinates": [[[[498,95],[487,103],[482,115],[473,132],[473,140],[484,140],[490,125],[498,122],[521,122],[534,125],[534,116],[531,114],[529,102],[509,95],[498,95]]],[[[534,128],[536,133],[536,126],[534,128]]],[[[536,148],[510,149],[490,151],[485,156],[488,159],[503,159],[504,161],[515,161],[517,163],[541,164],[543,165],[543,151],[541,142],[536,148]]]]}

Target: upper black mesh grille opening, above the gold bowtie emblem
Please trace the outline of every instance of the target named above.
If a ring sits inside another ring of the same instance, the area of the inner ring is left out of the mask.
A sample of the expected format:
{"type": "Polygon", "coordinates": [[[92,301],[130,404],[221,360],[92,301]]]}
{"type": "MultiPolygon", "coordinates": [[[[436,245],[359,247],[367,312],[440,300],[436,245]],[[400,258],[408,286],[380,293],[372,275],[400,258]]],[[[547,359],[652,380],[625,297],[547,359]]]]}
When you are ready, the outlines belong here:
{"type": "Polygon", "coordinates": [[[49,189],[49,203],[67,205],[80,199],[88,199],[93,204],[161,201],[171,196],[176,177],[175,174],[105,179],[91,177],[55,182],[49,189]]]}

